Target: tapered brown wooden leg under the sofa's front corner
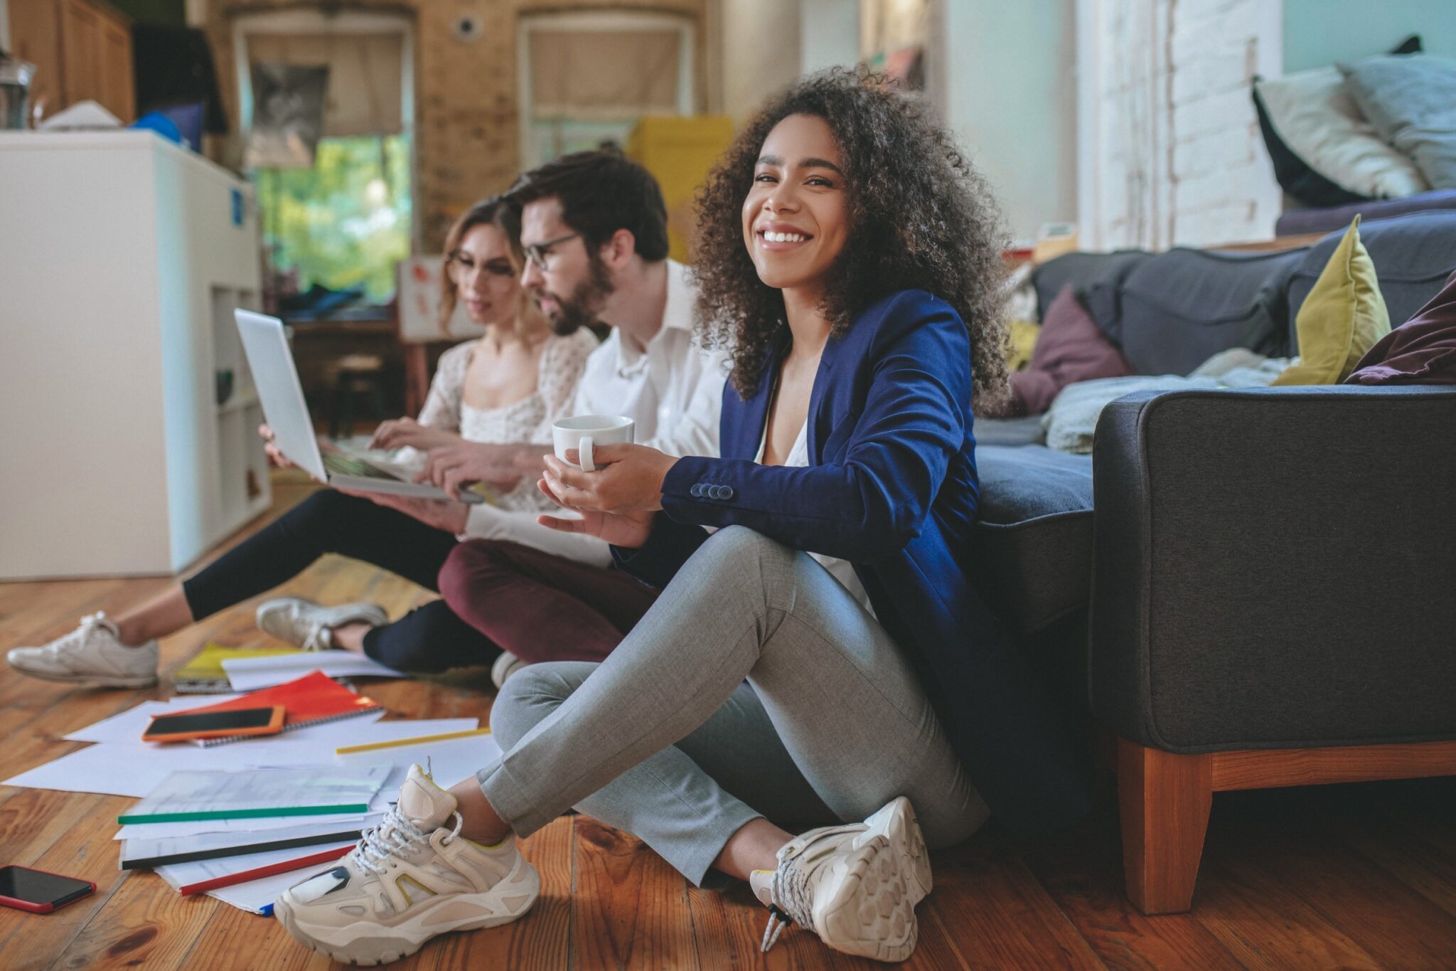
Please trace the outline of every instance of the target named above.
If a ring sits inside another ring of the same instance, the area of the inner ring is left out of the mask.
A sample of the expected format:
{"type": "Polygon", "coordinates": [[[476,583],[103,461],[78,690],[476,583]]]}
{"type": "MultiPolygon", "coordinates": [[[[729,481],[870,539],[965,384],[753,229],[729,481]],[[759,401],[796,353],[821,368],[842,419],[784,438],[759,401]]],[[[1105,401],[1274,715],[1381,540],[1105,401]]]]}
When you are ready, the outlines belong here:
{"type": "Polygon", "coordinates": [[[1117,740],[1127,895],[1144,914],[1192,905],[1213,804],[1213,756],[1175,756],[1117,740]]]}

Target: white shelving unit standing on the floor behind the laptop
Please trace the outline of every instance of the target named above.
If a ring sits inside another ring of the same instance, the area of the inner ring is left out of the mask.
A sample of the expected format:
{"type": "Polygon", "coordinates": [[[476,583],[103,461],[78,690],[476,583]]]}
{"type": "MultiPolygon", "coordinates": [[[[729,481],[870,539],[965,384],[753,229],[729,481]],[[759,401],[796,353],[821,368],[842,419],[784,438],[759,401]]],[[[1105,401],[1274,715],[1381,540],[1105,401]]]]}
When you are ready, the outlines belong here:
{"type": "Polygon", "coordinates": [[[252,186],[153,132],[0,132],[0,579],[175,574],[268,508],[258,252],[252,186]]]}

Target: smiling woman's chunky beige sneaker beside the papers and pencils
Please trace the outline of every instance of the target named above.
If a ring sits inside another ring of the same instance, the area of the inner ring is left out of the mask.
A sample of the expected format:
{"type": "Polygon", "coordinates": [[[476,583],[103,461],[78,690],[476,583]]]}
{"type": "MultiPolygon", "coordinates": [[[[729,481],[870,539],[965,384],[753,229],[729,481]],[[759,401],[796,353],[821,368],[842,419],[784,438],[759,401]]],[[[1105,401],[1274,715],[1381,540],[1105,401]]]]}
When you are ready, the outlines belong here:
{"type": "Polygon", "coordinates": [[[300,943],[348,964],[406,958],[451,930],[505,924],[536,903],[540,876],[514,837],[460,836],[456,798],[411,766],[399,802],[338,866],[294,884],[274,916],[300,943]],[[454,817],[453,830],[443,823],[454,817]]]}

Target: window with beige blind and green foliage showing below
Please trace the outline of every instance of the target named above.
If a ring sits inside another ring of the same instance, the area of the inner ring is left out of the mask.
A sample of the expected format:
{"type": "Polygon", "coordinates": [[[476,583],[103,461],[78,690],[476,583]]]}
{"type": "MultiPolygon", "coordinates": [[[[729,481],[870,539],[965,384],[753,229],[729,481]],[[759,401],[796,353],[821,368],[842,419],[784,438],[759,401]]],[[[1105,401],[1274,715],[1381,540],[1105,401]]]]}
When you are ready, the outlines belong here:
{"type": "Polygon", "coordinates": [[[236,22],[245,132],[253,64],[329,67],[313,167],[249,172],[265,288],[284,316],[368,314],[395,296],[395,265],[416,236],[412,52],[412,25],[395,15],[288,10],[236,22]]]}

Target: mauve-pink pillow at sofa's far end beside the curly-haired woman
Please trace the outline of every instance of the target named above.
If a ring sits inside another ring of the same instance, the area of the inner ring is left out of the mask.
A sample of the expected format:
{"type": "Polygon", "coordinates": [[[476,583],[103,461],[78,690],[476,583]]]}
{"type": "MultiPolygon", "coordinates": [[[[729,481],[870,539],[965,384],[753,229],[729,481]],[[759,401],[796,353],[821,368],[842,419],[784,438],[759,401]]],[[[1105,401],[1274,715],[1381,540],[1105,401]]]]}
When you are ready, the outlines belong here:
{"type": "Polygon", "coordinates": [[[1012,411],[1016,415],[1040,415],[1073,381],[1128,374],[1134,374],[1133,365],[1102,336],[1072,291],[1072,284],[1067,284],[1047,307],[1031,364],[1010,376],[1012,411]]]}

